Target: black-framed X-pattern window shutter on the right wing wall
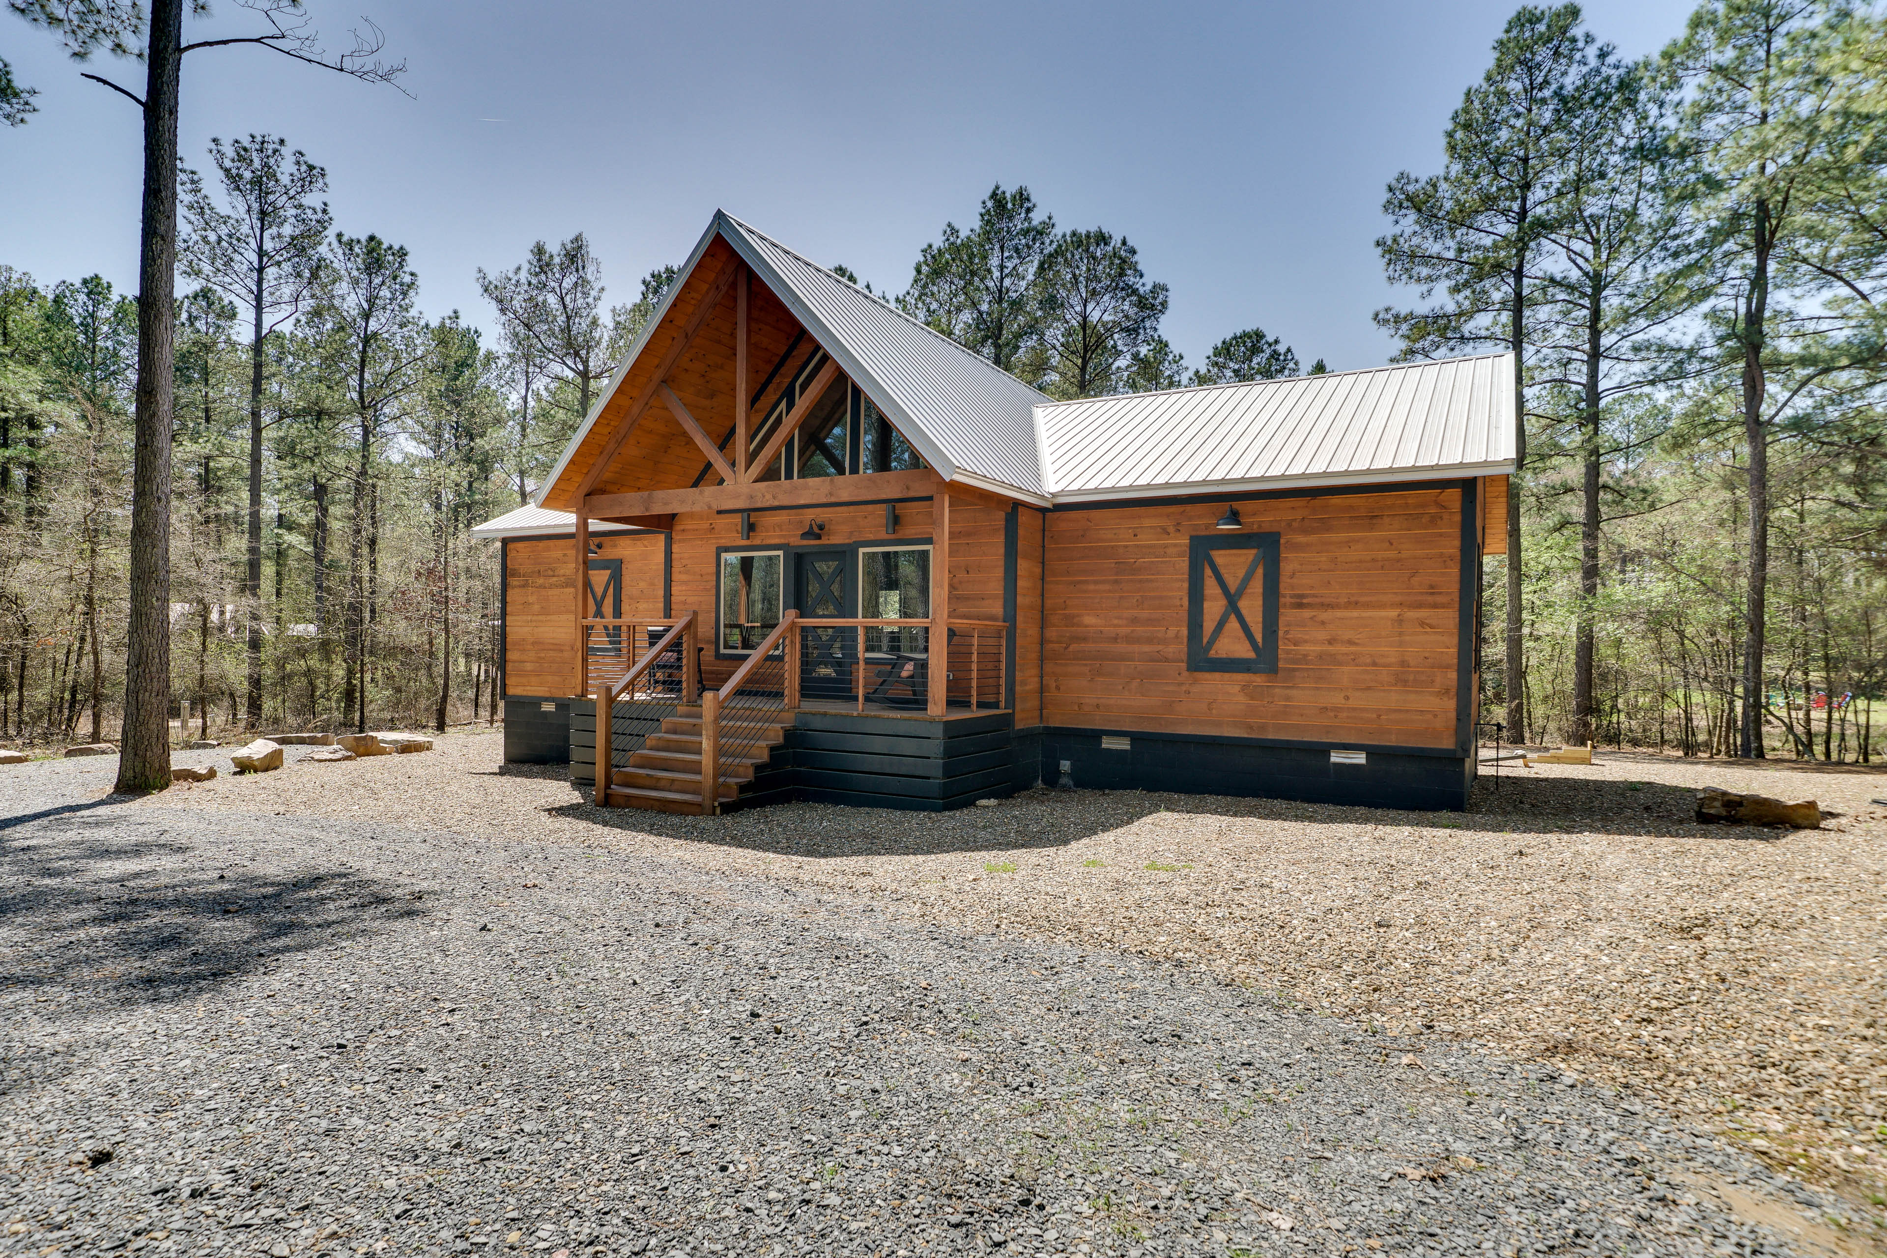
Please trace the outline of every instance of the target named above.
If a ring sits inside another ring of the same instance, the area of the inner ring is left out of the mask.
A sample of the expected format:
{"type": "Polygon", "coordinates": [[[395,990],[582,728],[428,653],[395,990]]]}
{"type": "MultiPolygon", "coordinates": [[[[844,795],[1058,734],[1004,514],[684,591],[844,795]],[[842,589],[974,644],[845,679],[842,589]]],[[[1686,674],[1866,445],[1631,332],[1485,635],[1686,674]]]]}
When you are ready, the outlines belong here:
{"type": "Polygon", "coordinates": [[[1185,666],[1193,673],[1277,671],[1277,534],[1193,538],[1185,666]]]}

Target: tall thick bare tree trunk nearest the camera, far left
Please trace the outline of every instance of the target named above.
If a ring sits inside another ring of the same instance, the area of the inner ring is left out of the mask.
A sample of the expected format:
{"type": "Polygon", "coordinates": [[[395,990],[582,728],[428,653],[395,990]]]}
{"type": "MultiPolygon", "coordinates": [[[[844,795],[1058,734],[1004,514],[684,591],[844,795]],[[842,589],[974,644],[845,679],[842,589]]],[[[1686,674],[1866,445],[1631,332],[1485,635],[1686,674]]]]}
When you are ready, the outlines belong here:
{"type": "Polygon", "coordinates": [[[119,792],[170,786],[170,426],[175,389],[177,85],[183,0],[151,0],[138,257],[130,626],[119,792]]]}

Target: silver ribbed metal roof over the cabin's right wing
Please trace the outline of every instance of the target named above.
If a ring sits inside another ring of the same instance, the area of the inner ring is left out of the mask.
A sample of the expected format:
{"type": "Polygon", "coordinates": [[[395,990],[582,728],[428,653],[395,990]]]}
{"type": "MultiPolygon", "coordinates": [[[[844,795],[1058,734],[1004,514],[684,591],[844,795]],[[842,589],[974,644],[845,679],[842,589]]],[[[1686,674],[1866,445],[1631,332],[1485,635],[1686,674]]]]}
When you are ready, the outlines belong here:
{"type": "Polygon", "coordinates": [[[1498,475],[1513,356],[1053,402],[1036,422],[1055,502],[1498,475]]]}

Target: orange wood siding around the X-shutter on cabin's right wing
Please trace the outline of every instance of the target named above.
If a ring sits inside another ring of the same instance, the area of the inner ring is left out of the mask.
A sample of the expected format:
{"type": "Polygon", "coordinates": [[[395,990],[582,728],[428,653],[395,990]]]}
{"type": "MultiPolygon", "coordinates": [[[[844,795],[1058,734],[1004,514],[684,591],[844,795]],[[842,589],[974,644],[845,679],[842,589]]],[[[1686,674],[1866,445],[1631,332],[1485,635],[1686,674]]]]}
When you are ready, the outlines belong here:
{"type": "Polygon", "coordinates": [[[1225,505],[1047,515],[1044,724],[1453,747],[1461,490],[1238,502],[1281,534],[1277,671],[1193,673],[1189,538],[1225,505]]]}

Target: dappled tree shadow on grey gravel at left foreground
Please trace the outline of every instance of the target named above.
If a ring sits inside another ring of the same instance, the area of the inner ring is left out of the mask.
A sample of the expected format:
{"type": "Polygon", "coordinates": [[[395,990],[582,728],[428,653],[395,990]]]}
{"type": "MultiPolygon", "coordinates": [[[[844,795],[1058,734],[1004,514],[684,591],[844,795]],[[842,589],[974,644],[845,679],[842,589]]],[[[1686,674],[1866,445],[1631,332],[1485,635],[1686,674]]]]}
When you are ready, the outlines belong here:
{"type": "Polygon", "coordinates": [[[0,983],[66,992],[36,1017],[194,996],[274,960],[423,917],[413,896],[351,869],[213,868],[191,847],[70,817],[0,843],[0,983]]]}

